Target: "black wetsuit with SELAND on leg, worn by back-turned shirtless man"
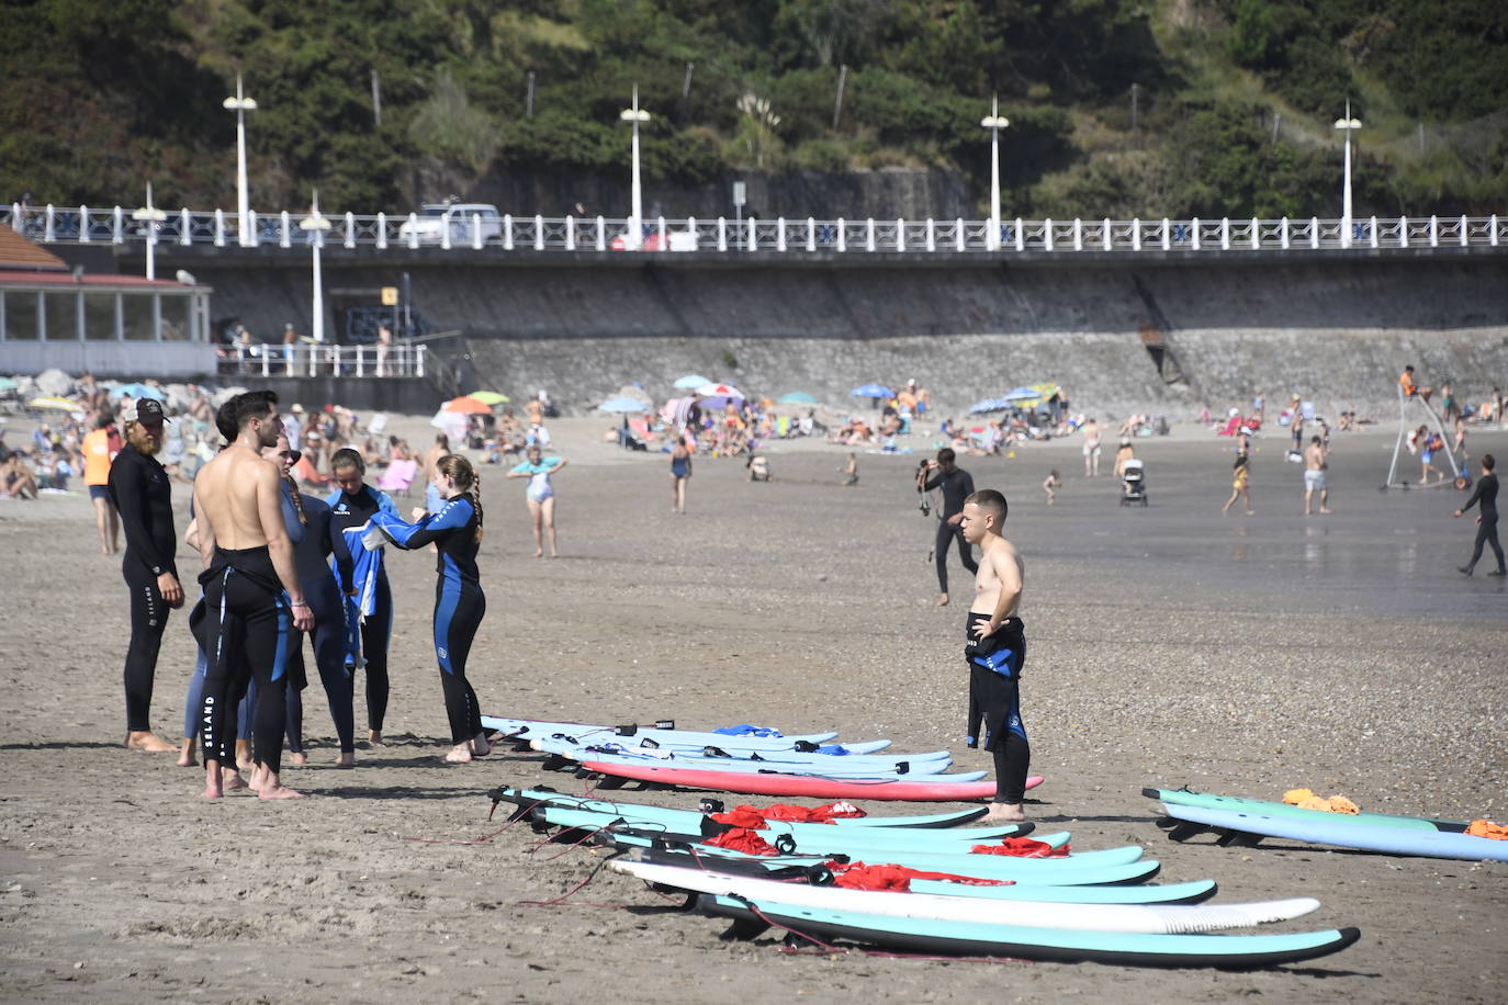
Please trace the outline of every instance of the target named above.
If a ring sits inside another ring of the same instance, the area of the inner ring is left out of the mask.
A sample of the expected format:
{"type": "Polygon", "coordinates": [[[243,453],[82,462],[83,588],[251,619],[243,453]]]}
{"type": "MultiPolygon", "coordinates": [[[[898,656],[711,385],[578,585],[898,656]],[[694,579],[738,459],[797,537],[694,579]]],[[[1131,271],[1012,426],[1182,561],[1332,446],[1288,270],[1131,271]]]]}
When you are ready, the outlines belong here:
{"type": "Polygon", "coordinates": [[[267,545],[214,548],[210,568],[199,574],[208,613],[204,707],[199,740],[205,759],[232,764],[235,705],[246,692],[246,675],[256,681],[252,756],[273,771],[282,770],[287,713],[288,655],[293,646],[293,610],[273,568],[267,545]]]}

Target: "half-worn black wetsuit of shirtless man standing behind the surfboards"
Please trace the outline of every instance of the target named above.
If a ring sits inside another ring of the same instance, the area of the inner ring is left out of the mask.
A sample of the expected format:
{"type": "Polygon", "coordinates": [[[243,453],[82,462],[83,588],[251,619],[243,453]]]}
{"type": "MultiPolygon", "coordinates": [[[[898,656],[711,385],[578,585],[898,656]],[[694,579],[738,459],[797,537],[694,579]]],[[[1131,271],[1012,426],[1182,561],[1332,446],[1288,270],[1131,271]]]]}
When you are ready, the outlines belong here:
{"type": "Polygon", "coordinates": [[[968,661],[968,746],[995,755],[995,802],[1019,803],[1025,799],[1027,767],[1031,746],[1021,722],[1021,669],[1027,661],[1025,625],[1006,618],[995,634],[974,637],[974,625],[989,615],[968,613],[964,658],[968,661]]]}

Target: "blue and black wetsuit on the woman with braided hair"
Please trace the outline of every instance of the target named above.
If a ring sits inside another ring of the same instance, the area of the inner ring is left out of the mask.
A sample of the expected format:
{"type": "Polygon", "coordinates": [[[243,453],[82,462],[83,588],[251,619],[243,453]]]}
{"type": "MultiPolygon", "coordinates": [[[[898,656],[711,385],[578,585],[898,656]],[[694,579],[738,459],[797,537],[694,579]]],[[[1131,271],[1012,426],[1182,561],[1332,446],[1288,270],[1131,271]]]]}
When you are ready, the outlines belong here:
{"type": "Polygon", "coordinates": [[[445,711],[451,720],[451,743],[466,743],[481,732],[481,708],[477,692],[466,680],[466,657],[470,654],[477,627],[487,613],[487,597],[481,592],[477,571],[478,532],[481,514],[470,496],[455,496],[437,514],[418,523],[379,514],[372,524],[382,527],[400,548],[422,548],[434,542],[439,550],[434,583],[434,655],[440,663],[440,686],[445,689],[445,711]]]}

